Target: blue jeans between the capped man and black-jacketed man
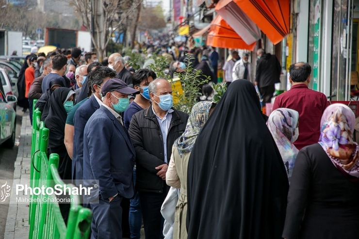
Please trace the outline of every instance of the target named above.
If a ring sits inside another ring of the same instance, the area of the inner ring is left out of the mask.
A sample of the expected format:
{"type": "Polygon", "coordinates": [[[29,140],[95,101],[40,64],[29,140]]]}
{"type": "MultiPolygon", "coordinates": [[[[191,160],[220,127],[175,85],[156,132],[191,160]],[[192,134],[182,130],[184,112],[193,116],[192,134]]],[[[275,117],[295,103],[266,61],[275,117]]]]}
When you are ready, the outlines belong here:
{"type": "MultiPolygon", "coordinates": [[[[133,169],[133,181],[136,182],[136,168],[133,169]]],[[[141,239],[142,212],[138,192],[130,200],[129,222],[131,239],[141,239]]]]}

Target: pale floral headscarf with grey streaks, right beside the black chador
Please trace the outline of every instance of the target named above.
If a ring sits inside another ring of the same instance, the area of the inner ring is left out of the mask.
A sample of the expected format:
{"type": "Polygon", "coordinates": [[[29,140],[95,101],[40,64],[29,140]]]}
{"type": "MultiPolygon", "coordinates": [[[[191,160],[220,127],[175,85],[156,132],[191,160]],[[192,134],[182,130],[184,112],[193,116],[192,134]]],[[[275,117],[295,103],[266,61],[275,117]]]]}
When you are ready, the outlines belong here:
{"type": "Polygon", "coordinates": [[[280,108],[273,111],[267,121],[269,131],[282,156],[288,179],[292,177],[295,159],[298,154],[298,149],[293,144],[299,136],[297,130],[298,120],[298,112],[280,108]]]}

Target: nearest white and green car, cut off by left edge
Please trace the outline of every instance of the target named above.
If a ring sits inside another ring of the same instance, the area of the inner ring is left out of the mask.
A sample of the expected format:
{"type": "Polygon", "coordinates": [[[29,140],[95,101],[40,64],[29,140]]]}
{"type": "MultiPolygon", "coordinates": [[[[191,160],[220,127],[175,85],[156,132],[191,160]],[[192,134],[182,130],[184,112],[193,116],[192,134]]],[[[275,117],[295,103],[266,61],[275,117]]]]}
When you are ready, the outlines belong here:
{"type": "Polygon", "coordinates": [[[15,145],[16,138],[16,96],[4,96],[0,90],[0,144],[6,148],[15,145]]]}

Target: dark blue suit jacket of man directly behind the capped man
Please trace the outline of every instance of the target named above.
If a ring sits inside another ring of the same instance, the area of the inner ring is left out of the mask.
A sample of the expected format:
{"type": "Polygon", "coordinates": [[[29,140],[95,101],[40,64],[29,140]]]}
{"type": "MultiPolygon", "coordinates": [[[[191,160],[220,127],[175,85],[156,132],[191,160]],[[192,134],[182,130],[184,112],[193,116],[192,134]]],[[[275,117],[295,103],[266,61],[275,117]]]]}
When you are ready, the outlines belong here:
{"type": "Polygon", "coordinates": [[[83,165],[83,130],[85,129],[88,119],[100,108],[98,102],[92,95],[82,106],[77,109],[74,116],[74,145],[72,153],[72,182],[79,185],[80,182],[74,180],[82,179],[83,165]]]}

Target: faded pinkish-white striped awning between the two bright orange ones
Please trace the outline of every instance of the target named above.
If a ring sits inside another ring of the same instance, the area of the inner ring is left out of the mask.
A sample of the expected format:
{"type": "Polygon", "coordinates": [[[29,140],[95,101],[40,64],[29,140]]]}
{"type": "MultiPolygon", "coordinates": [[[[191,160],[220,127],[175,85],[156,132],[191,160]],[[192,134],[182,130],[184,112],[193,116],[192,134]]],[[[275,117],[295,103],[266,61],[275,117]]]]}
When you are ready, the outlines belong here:
{"type": "Polygon", "coordinates": [[[245,15],[234,0],[220,0],[215,10],[246,44],[250,45],[261,39],[261,30],[245,15]]]}

